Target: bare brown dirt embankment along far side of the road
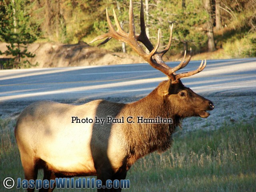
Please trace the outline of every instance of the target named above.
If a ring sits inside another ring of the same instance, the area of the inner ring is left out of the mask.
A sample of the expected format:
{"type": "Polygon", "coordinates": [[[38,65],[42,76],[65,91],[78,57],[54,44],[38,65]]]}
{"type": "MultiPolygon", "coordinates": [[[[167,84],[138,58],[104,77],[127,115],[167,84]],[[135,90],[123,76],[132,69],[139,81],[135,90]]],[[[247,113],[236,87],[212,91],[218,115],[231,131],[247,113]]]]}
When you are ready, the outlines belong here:
{"type": "MultiPolygon", "coordinates": [[[[0,50],[6,50],[6,43],[0,43],[0,50]]],[[[38,63],[38,68],[68,67],[68,66],[93,66],[130,64],[145,62],[139,56],[125,53],[110,52],[98,47],[89,46],[85,42],[78,44],[60,43],[34,43],[28,46],[28,52],[36,54],[34,58],[28,58],[31,64],[38,63]]],[[[6,58],[0,55],[0,58],[6,58]]]]}

